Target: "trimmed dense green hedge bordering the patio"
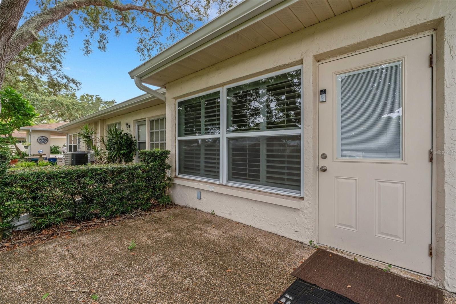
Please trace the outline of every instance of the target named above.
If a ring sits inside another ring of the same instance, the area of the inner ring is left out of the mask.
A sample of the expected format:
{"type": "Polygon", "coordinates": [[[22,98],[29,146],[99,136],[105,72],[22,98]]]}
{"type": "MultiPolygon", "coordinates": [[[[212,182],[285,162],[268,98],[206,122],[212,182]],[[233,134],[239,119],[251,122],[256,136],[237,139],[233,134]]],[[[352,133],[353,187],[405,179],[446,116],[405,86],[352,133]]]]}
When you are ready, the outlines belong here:
{"type": "MultiPolygon", "coordinates": [[[[171,203],[169,151],[140,151],[135,164],[8,170],[0,178],[0,231],[30,213],[37,229],[67,219],[112,217],[171,203]]],[[[0,236],[1,236],[0,234],[0,236]]]]}

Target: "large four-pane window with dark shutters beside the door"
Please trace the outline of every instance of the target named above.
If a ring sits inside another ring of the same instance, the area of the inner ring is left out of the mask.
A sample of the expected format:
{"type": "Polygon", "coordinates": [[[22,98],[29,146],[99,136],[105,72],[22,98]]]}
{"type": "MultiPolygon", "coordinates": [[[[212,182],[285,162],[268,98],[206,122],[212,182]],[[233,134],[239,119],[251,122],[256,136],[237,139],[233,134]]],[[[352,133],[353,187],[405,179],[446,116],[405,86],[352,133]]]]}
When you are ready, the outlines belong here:
{"type": "Polygon", "coordinates": [[[178,101],[178,175],[301,194],[301,120],[301,67],[178,101]]]}

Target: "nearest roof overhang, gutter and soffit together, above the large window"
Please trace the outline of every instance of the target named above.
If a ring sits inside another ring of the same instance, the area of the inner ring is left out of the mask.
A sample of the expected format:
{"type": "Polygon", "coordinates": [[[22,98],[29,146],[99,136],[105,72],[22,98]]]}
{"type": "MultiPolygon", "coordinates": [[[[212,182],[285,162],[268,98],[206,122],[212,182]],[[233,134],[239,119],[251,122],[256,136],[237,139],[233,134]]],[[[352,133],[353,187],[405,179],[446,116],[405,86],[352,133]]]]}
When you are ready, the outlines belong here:
{"type": "Polygon", "coordinates": [[[371,0],[244,0],[129,72],[159,87],[371,0]]]}

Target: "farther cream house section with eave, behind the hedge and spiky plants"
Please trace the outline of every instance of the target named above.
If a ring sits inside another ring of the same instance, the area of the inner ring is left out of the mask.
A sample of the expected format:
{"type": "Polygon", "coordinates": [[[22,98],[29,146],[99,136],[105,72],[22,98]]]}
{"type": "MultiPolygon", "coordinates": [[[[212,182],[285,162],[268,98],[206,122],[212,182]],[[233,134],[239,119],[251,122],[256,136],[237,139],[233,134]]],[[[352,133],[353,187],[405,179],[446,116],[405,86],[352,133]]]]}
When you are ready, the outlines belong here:
{"type": "MultiPolygon", "coordinates": [[[[164,90],[160,92],[163,93],[164,90]]],[[[165,149],[165,112],[164,100],[143,94],[83,116],[57,129],[67,132],[67,152],[88,150],[78,136],[84,124],[93,128],[96,137],[106,135],[108,128],[113,126],[135,136],[139,150],[165,149]]]]}

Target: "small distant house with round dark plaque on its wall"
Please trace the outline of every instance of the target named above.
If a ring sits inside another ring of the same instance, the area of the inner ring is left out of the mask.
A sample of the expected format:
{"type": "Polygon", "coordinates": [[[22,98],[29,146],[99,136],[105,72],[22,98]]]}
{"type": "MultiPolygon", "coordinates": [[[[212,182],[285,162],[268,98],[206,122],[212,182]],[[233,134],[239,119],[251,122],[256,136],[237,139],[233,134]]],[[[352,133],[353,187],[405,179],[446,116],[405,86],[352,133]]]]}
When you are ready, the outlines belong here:
{"type": "MultiPolygon", "coordinates": [[[[28,154],[36,154],[39,150],[43,150],[46,157],[51,156],[51,146],[57,145],[62,147],[67,141],[65,131],[57,131],[57,127],[66,124],[67,122],[58,122],[53,124],[25,126],[21,131],[25,131],[25,142],[30,142],[31,145],[26,149],[28,154]]],[[[13,135],[14,136],[14,135],[13,135]]],[[[23,145],[21,150],[24,151],[23,145]]]]}

